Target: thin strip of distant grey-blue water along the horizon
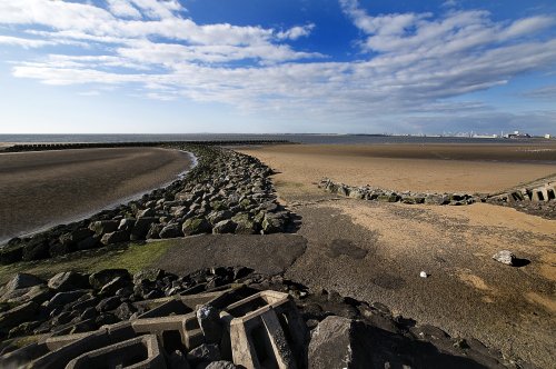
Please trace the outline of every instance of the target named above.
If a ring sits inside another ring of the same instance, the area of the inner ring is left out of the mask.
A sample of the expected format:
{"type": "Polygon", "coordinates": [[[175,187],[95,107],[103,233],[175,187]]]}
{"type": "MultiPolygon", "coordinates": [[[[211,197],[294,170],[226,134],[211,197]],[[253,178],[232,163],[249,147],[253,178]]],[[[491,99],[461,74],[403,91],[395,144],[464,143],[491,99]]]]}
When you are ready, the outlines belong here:
{"type": "MultiPolygon", "coordinates": [[[[148,142],[207,140],[288,140],[299,143],[516,143],[516,140],[370,134],[0,134],[0,142],[148,142]]],[[[527,139],[527,143],[543,140],[527,139]]]]}

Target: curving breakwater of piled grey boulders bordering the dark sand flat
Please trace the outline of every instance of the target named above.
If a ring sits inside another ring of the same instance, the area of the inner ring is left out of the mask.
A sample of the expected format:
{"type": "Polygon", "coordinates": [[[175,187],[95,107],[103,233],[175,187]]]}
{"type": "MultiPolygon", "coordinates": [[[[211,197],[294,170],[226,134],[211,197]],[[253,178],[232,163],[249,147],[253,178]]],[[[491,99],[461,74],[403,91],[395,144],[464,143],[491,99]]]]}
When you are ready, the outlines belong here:
{"type": "MultiPolygon", "coordinates": [[[[0,247],[0,263],[63,256],[97,247],[199,233],[286,231],[291,213],[276,201],[272,171],[259,160],[210,146],[168,146],[192,152],[187,176],[141,199],[0,247]]],[[[107,183],[109,186],[109,183],[107,183]]]]}

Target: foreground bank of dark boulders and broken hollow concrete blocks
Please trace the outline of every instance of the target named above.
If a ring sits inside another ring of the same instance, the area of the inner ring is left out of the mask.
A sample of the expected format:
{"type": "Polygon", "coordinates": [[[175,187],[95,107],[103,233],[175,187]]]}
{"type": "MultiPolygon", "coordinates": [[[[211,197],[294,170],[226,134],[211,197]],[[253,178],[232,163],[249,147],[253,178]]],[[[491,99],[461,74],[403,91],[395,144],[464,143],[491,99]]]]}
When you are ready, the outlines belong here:
{"type": "Polygon", "coordinates": [[[26,368],[527,368],[380,303],[245,267],[105,269],[0,289],[0,366],[26,368]]]}

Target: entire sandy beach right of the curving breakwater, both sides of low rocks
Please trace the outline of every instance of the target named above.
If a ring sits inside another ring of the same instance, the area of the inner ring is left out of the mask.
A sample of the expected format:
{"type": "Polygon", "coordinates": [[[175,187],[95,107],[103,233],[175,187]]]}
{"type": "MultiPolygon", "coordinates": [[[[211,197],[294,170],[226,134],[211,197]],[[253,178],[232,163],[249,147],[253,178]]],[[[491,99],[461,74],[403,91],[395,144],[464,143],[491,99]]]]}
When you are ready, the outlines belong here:
{"type": "Polygon", "coordinates": [[[556,357],[555,220],[486,203],[438,207],[337,198],[312,183],[330,177],[393,189],[496,191],[556,172],[555,164],[543,163],[556,151],[536,158],[535,151],[518,151],[529,149],[538,147],[454,147],[441,151],[454,150],[441,159],[431,158],[438,148],[408,146],[399,151],[345,146],[242,151],[278,171],[278,195],[301,220],[298,235],[307,239],[307,249],[287,278],[383,302],[394,313],[549,368],[556,357]],[[492,256],[503,249],[526,262],[513,268],[494,261],[492,256]],[[420,271],[429,277],[420,278],[420,271]]]}

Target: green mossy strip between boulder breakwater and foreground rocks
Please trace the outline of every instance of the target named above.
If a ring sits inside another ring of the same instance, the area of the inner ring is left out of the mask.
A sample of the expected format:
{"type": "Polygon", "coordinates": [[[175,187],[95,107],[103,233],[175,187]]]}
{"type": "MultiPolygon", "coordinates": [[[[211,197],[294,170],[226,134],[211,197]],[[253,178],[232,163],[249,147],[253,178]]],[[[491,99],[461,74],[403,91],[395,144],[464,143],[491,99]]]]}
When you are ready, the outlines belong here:
{"type": "Polygon", "coordinates": [[[0,266],[0,283],[9,281],[17,272],[50,278],[60,271],[91,273],[102,269],[123,268],[131,273],[152,266],[171,247],[170,241],[108,246],[99,249],[72,252],[47,260],[22,261],[0,266]]]}

